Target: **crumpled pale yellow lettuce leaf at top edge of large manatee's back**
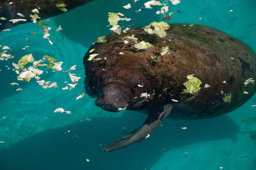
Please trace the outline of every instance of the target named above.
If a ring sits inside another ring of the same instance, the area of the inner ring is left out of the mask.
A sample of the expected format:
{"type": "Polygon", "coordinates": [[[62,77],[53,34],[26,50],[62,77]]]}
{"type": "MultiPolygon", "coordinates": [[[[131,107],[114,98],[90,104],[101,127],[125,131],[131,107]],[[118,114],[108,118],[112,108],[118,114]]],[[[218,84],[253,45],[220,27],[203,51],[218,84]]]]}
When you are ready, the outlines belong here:
{"type": "Polygon", "coordinates": [[[154,27],[154,30],[150,26],[143,27],[143,29],[148,32],[148,34],[157,34],[160,38],[166,36],[166,29],[170,29],[170,25],[166,22],[152,22],[151,25],[154,27]]]}

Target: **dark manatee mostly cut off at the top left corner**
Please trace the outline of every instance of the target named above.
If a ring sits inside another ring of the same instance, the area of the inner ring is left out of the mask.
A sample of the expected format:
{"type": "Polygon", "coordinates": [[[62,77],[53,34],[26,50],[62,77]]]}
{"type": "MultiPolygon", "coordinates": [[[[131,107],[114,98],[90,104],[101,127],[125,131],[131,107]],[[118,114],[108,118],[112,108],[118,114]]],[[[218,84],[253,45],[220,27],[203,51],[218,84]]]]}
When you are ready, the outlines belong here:
{"type": "Polygon", "coordinates": [[[31,10],[38,8],[39,13],[38,16],[41,19],[53,17],[54,15],[58,15],[63,13],[63,11],[59,10],[56,4],[63,2],[67,6],[65,8],[67,10],[71,10],[76,8],[77,6],[83,5],[93,0],[1,0],[0,1],[0,18],[4,17],[6,20],[0,19],[0,31],[3,29],[7,29],[9,27],[13,27],[15,25],[19,25],[25,22],[31,22],[30,15],[34,15],[31,10]],[[21,13],[24,17],[20,17],[17,13],[21,13]],[[13,19],[26,19],[26,21],[20,21],[16,23],[12,23],[9,20],[13,19]]]}

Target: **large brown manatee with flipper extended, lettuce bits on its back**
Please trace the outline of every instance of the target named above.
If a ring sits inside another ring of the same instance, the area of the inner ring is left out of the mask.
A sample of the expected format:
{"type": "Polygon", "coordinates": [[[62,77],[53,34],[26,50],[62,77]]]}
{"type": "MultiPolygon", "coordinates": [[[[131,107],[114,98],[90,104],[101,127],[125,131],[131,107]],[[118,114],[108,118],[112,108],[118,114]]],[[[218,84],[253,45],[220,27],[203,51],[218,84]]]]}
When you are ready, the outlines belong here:
{"type": "Polygon", "coordinates": [[[97,97],[97,106],[113,112],[148,110],[140,128],[102,152],[147,138],[166,117],[217,117],[255,93],[256,56],[245,43],[205,25],[170,24],[165,31],[160,38],[134,27],[109,34],[86,52],[85,90],[97,97]],[[150,46],[136,48],[142,41],[150,46]]]}

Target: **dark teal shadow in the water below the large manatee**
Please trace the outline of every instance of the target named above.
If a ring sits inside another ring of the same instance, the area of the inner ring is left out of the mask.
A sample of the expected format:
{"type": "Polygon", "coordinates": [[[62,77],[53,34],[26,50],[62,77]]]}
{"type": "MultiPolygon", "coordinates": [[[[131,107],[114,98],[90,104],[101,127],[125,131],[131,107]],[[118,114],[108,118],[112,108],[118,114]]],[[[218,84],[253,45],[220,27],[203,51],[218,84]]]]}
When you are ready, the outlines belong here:
{"type": "Polygon", "coordinates": [[[92,127],[90,122],[77,122],[40,132],[10,148],[1,149],[0,168],[149,169],[159,160],[164,148],[168,151],[204,141],[236,139],[239,132],[239,127],[226,115],[189,121],[168,118],[150,138],[115,152],[100,152],[111,139],[142,124],[146,116],[127,112],[120,118],[93,118],[92,127]],[[69,127],[70,132],[63,134],[69,127]],[[86,159],[90,159],[90,162],[86,162],[86,159]]]}

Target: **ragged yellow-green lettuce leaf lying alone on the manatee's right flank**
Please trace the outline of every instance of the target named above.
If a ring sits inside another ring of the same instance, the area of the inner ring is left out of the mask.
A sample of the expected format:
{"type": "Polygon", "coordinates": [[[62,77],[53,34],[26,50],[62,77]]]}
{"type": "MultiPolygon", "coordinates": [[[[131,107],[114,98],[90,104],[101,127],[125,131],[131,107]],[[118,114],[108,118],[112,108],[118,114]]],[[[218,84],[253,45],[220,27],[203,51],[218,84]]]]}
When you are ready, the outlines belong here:
{"type": "Polygon", "coordinates": [[[195,94],[198,92],[201,87],[202,81],[200,81],[198,78],[194,77],[192,74],[187,76],[188,81],[183,83],[183,85],[186,87],[186,89],[183,89],[183,92],[181,94],[195,94]]]}

